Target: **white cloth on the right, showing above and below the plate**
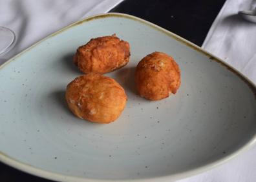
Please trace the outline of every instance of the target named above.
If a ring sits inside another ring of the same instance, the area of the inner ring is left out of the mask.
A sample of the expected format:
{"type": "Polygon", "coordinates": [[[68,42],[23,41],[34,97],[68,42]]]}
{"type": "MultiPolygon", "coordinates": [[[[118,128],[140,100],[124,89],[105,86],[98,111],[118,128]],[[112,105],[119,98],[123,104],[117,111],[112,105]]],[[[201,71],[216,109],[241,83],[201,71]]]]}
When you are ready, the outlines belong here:
{"type": "MultiPolygon", "coordinates": [[[[239,10],[252,10],[255,6],[255,0],[227,0],[202,47],[256,84],[256,23],[244,21],[237,15],[239,10]]],[[[220,167],[179,182],[255,182],[255,156],[256,146],[220,167]]]]}

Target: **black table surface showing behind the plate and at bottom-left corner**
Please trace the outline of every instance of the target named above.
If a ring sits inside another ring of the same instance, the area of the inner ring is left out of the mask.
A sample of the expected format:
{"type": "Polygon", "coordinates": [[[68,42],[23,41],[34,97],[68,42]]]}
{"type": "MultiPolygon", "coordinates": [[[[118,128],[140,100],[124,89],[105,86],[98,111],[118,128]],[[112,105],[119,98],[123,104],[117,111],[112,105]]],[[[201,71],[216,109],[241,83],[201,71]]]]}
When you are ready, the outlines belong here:
{"type": "MultiPolygon", "coordinates": [[[[201,46],[225,0],[126,0],[110,12],[135,15],[201,46]]],[[[0,162],[0,181],[50,182],[0,162]]]]}

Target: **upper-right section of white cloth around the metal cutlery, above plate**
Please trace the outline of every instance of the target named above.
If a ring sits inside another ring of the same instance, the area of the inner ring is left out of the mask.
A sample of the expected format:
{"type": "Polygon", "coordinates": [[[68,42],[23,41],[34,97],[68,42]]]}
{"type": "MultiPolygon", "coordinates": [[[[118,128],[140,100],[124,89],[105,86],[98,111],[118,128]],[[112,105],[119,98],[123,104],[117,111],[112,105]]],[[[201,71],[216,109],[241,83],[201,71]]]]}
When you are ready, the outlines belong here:
{"type": "Polygon", "coordinates": [[[215,19],[202,47],[224,59],[256,84],[256,23],[237,12],[253,10],[255,0],[228,0],[215,19]]]}

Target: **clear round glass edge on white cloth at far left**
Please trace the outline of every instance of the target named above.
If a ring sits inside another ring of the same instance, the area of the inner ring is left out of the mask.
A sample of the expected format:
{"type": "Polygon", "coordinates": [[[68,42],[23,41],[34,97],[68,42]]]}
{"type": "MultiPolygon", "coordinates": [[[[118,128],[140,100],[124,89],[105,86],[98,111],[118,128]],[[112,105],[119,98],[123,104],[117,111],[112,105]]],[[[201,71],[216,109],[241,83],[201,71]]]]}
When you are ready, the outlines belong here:
{"type": "Polygon", "coordinates": [[[16,35],[9,28],[0,26],[0,55],[13,48],[16,43],[16,35]]]}

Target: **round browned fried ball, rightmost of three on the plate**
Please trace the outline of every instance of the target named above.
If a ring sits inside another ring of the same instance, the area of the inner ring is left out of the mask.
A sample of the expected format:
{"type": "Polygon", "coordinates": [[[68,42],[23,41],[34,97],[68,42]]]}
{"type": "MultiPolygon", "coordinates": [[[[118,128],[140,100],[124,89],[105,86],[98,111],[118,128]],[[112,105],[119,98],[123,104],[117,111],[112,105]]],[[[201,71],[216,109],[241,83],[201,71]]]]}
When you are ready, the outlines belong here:
{"type": "Polygon", "coordinates": [[[163,52],[145,56],[136,66],[135,84],[138,94],[153,101],[175,94],[180,86],[180,68],[163,52]]]}

